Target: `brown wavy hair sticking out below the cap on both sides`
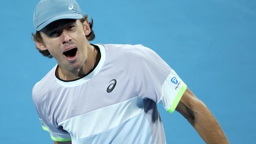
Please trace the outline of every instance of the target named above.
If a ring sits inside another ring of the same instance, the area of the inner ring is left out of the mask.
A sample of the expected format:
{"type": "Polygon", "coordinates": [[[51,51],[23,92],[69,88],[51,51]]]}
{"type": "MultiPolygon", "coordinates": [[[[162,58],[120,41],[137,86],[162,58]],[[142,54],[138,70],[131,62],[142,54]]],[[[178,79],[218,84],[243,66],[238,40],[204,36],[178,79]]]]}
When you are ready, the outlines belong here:
{"type": "MultiPolygon", "coordinates": [[[[85,22],[85,20],[87,20],[88,15],[83,15],[83,18],[80,19],[80,21],[83,23],[85,22]]],[[[91,22],[89,22],[89,26],[91,28],[91,33],[89,33],[89,35],[86,35],[86,39],[88,41],[93,41],[95,39],[95,34],[93,31],[93,18],[91,18],[91,22]]],[[[41,34],[39,33],[39,31],[36,31],[36,33],[32,33],[33,36],[33,40],[34,41],[38,41],[42,44],[44,44],[43,42],[43,38],[41,36],[41,34]]],[[[52,55],[50,54],[50,52],[48,50],[40,50],[39,48],[37,48],[37,46],[35,47],[41,54],[43,54],[43,56],[48,57],[48,58],[52,58],[52,55]]]]}

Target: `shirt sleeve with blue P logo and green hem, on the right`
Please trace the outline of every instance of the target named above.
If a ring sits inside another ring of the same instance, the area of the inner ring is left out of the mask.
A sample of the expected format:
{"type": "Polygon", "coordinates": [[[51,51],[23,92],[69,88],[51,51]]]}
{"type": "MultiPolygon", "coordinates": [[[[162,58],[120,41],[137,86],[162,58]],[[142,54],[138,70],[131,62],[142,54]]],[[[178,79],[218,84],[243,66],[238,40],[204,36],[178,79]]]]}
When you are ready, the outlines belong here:
{"type": "Polygon", "coordinates": [[[186,84],[153,50],[139,46],[136,55],[133,78],[138,96],[162,103],[166,111],[173,113],[186,84]]]}

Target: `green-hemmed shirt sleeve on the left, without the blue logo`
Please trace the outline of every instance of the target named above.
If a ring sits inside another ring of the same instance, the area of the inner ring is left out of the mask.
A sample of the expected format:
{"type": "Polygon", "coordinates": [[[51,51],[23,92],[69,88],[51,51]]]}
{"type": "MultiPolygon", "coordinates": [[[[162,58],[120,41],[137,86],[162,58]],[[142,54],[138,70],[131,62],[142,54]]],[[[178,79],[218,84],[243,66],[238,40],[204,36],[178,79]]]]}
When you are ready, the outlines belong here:
{"type": "Polygon", "coordinates": [[[35,85],[32,91],[32,98],[33,98],[33,103],[35,105],[35,109],[37,111],[37,114],[39,116],[39,120],[41,121],[41,125],[43,129],[50,133],[50,136],[54,141],[59,141],[59,142],[70,141],[71,140],[70,134],[67,131],[65,131],[62,126],[58,126],[58,124],[56,124],[54,120],[51,120],[51,118],[48,118],[49,116],[47,114],[47,106],[46,106],[47,91],[46,92],[45,90],[40,91],[38,90],[39,88],[37,85],[35,85]]]}

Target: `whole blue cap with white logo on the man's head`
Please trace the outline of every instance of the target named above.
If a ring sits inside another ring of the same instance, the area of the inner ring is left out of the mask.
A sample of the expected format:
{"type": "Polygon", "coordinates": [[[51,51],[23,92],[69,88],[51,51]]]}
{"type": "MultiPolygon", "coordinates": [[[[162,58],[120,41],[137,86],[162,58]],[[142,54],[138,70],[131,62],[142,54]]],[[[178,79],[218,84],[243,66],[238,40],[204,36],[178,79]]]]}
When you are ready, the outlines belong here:
{"type": "Polygon", "coordinates": [[[83,18],[75,0],[41,0],[35,7],[33,23],[37,31],[56,20],[83,18]]]}

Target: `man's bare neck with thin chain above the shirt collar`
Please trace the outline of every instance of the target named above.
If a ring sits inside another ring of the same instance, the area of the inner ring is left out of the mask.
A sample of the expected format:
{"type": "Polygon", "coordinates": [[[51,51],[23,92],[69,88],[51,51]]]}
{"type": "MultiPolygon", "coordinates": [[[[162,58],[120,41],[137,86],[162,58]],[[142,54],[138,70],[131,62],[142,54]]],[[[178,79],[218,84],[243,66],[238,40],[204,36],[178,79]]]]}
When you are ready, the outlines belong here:
{"type": "Polygon", "coordinates": [[[60,79],[69,81],[81,78],[82,76],[91,72],[91,70],[95,68],[97,64],[98,50],[89,44],[87,54],[87,59],[83,63],[82,67],[76,70],[67,70],[59,65],[57,70],[58,77],[60,79]]]}

